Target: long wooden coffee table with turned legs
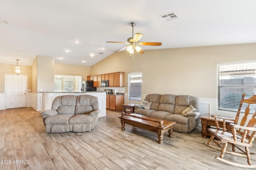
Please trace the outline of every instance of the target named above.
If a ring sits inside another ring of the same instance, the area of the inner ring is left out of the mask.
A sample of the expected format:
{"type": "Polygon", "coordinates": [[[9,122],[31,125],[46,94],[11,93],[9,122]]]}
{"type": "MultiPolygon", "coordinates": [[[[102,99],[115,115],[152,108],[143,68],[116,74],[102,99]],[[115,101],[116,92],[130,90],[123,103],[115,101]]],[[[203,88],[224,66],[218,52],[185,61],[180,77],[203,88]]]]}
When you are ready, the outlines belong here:
{"type": "Polygon", "coordinates": [[[139,115],[136,113],[127,114],[122,112],[121,119],[122,130],[124,130],[125,123],[142,129],[156,132],[158,134],[158,143],[162,144],[164,139],[164,132],[168,131],[168,137],[172,137],[172,125],[176,122],[157,119],[154,117],[148,117],[139,115]]]}

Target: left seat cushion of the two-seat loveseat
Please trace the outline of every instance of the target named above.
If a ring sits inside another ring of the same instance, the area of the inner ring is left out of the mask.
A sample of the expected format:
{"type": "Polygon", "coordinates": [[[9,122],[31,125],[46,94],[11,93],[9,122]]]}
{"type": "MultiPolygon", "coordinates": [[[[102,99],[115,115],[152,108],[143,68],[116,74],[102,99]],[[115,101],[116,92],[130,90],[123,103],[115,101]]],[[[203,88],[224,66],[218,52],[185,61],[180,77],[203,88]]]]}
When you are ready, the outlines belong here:
{"type": "Polygon", "coordinates": [[[45,124],[68,124],[70,117],[74,114],[58,114],[50,117],[46,117],[45,124]]]}

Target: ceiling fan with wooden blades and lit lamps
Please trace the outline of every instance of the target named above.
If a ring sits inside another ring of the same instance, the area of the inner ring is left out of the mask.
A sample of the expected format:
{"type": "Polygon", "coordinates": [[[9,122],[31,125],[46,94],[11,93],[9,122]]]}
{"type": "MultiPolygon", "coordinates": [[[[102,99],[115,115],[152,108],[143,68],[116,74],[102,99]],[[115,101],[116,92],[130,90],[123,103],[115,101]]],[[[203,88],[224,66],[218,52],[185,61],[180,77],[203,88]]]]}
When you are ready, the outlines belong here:
{"type": "Polygon", "coordinates": [[[127,49],[127,51],[130,54],[133,54],[134,53],[134,49],[135,49],[138,53],[143,54],[144,51],[138,45],[151,45],[151,46],[161,46],[162,45],[161,42],[139,42],[141,37],[143,36],[143,34],[136,33],[133,36],[133,27],[136,25],[136,23],[135,22],[130,22],[130,25],[132,26],[132,37],[128,38],[127,42],[106,41],[106,43],[124,43],[124,44],[128,44],[128,45],[126,45],[126,46],[116,50],[115,53],[119,52],[119,51],[122,51],[124,49],[127,49]]]}

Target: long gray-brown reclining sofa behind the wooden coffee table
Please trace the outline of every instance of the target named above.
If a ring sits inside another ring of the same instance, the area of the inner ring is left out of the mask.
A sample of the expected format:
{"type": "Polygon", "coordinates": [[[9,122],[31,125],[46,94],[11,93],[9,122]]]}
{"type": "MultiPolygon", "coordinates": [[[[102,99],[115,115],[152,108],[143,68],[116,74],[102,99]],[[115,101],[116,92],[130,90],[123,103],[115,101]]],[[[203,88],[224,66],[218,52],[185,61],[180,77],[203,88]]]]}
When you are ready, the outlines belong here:
{"type": "Polygon", "coordinates": [[[199,98],[188,95],[148,94],[144,101],[151,102],[150,109],[134,105],[134,112],[140,115],[175,121],[173,130],[188,133],[200,123],[199,98]],[[197,111],[182,114],[192,105],[197,111]]]}

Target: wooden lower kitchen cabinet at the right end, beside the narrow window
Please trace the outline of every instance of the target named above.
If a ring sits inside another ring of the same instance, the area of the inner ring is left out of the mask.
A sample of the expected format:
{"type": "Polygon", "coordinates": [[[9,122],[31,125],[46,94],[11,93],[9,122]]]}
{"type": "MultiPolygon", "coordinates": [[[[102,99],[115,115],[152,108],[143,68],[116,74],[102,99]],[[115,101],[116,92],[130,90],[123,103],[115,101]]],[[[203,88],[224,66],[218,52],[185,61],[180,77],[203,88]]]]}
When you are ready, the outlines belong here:
{"type": "Polygon", "coordinates": [[[122,111],[124,104],[124,95],[106,95],[106,108],[116,111],[122,111]]]}

